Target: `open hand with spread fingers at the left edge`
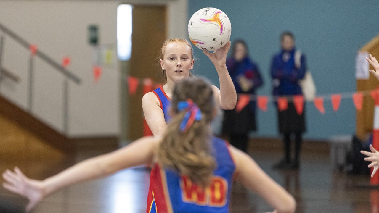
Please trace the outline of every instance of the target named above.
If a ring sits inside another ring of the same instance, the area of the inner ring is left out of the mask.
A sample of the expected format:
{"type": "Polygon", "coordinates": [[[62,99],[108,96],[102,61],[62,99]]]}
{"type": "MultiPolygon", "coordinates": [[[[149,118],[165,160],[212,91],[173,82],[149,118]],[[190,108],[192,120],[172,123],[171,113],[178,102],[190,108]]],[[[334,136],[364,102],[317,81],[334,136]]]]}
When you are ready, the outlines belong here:
{"type": "Polygon", "coordinates": [[[3,172],[3,179],[5,180],[3,187],[6,190],[29,199],[25,208],[27,212],[31,211],[44,197],[42,182],[29,179],[17,166],[14,171],[6,169],[3,172]]]}

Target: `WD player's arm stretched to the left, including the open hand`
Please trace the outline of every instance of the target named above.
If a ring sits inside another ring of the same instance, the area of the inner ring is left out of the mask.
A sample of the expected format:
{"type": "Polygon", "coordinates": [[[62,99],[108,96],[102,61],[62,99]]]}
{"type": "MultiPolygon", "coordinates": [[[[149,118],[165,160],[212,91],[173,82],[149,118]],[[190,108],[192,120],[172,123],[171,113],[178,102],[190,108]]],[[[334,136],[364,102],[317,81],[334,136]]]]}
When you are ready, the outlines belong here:
{"type": "Polygon", "coordinates": [[[45,180],[26,177],[19,168],[3,172],[3,187],[29,199],[26,211],[32,210],[50,193],[74,183],[99,179],[124,168],[150,163],[158,141],[152,137],[141,138],[114,152],[89,158],[45,180]]]}

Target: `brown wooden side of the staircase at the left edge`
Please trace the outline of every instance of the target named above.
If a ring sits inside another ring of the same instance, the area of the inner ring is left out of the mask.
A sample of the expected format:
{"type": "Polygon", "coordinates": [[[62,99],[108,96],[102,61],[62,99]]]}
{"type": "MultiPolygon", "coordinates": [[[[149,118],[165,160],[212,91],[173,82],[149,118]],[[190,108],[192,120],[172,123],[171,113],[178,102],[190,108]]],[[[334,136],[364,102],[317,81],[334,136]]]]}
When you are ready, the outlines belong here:
{"type": "Polygon", "coordinates": [[[66,136],[0,96],[0,158],[59,160],[74,150],[66,136]]]}

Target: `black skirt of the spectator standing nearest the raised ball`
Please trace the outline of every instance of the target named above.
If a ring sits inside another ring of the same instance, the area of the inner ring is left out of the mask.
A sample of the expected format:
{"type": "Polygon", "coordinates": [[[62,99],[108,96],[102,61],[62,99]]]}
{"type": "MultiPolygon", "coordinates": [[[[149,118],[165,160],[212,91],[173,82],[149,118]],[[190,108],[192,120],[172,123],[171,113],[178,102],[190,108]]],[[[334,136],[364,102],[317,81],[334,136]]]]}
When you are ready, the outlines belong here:
{"type": "Polygon", "coordinates": [[[244,135],[250,131],[256,131],[255,124],[255,101],[249,102],[240,112],[224,110],[222,133],[224,135],[244,135]]]}

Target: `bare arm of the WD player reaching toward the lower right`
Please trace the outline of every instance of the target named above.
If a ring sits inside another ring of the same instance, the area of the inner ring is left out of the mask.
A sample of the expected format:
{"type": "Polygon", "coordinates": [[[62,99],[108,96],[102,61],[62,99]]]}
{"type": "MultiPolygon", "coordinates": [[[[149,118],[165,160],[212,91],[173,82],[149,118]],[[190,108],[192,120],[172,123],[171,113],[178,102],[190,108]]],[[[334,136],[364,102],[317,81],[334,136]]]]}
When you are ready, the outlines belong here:
{"type": "Polygon", "coordinates": [[[241,150],[230,146],[235,159],[237,180],[257,192],[276,210],[276,213],[293,213],[296,201],[282,186],[269,177],[255,161],[241,150]]]}

